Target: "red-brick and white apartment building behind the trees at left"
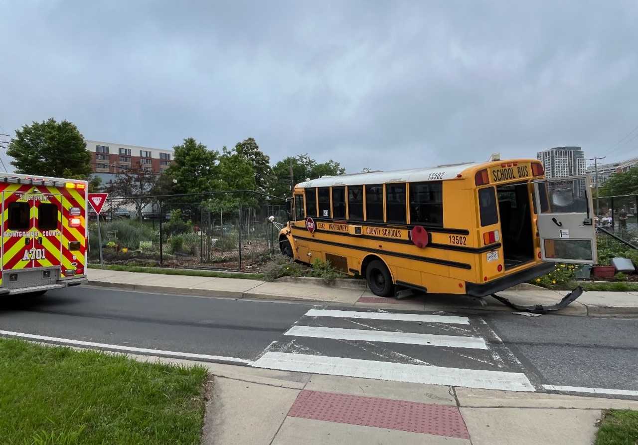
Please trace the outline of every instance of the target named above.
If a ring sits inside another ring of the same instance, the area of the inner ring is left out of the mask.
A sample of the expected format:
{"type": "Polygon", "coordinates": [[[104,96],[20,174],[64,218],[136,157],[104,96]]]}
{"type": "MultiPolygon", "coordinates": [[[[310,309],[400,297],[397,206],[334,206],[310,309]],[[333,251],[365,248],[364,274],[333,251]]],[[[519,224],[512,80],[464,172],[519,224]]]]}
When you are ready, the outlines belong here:
{"type": "Polygon", "coordinates": [[[171,149],[131,146],[100,140],[86,140],[86,148],[93,155],[93,172],[101,174],[117,174],[122,170],[139,168],[159,174],[168,169],[174,155],[171,149]]]}

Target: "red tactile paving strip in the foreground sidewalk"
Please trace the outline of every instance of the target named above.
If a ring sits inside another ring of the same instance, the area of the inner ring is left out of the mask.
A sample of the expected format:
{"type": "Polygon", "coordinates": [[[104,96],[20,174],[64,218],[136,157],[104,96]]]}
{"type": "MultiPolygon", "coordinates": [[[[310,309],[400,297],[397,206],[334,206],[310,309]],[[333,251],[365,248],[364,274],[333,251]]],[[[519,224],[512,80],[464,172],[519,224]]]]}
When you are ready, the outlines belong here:
{"type": "Polygon", "coordinates": [[[304,390],[288,416],[470,439],[457,407],[304,390]]]}

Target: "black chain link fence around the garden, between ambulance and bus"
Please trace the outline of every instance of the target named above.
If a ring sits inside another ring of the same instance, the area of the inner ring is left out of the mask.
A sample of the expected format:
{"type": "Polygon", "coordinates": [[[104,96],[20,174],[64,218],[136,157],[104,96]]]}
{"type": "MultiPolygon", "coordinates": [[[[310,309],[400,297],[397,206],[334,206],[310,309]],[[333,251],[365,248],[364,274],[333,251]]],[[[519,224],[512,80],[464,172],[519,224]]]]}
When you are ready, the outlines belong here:
{"type": "MultiPolygon", "coordinates": [[[[258,192],[109,198],[100,214],[105,264],[256,271],[278,253],[288,203],[258,192]]],[[[89,262],[99,262],[89,212],[89,262]]]]}

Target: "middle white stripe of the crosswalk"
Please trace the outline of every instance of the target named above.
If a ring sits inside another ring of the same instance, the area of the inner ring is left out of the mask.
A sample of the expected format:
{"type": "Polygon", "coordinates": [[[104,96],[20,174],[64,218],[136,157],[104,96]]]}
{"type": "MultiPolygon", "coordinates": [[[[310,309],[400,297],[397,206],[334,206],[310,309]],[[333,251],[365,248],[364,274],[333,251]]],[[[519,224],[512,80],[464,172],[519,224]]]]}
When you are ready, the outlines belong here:
{"type": "Polygon", "coordinates": [[[293,326],[284,335],[366,342],[406,343],[411,345],[447,346],[455,348],[487,349],[485,340],[478,337],[458,335],[415,334],[410,332],[367,331],[364,329],[323,328],[315,326],[293,326]]]}

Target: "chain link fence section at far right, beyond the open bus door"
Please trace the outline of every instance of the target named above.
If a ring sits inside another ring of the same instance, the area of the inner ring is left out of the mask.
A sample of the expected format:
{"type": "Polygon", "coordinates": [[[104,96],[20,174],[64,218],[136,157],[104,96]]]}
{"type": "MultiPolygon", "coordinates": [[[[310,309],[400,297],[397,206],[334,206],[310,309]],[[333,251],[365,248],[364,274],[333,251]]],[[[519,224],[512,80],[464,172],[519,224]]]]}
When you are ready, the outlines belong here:
{"type": "Polygon", "coordinates": [[[638,195],[607,196],[593,199],[597,226],[611,230],[638,244],[638,195]]]}

